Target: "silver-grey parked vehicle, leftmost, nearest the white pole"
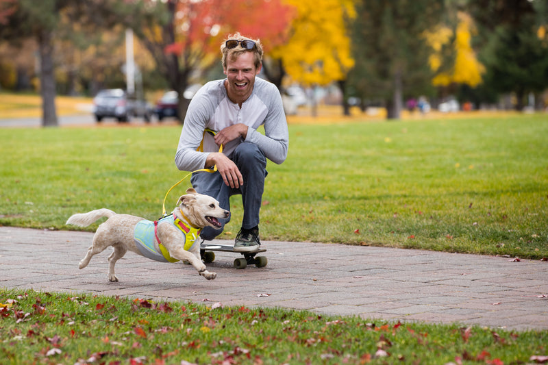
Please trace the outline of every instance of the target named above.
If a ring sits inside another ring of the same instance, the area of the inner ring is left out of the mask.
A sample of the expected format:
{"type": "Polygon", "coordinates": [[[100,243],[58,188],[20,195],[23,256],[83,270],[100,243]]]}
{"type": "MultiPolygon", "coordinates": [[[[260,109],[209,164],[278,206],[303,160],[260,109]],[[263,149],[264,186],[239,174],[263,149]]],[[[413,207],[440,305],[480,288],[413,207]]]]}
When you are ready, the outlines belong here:
{"type": "Polygon", "coordinates": [[[122,89],[106,89],[99,91],[93,99],[93,114],[97,122],[103,121],[103,118],[129,122],[132,117],[142,117],[149,122],[152,108],[145,100],[128,97],[122,89]]]}

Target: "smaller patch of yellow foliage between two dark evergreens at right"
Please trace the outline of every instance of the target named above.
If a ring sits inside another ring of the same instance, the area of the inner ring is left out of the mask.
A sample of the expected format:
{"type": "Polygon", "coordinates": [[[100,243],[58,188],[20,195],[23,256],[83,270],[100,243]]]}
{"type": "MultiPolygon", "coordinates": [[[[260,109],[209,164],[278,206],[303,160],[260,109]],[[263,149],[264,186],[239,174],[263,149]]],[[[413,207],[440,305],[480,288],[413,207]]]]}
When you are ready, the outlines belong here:
{"type": "Polygon", "coordinates": [[[485,73],[485,66],[476,58],[471,46],[472,34],[475,32],[473,21],[469,14],[458,13],[458,25],[453,41],[455,62],[451,71],[440,72],[443,66],[441,49],[443,45],[451,40],[453,31],[448,27],[440,26],[434,32],[425,34],[434,53],[430,55],[429,64],[432,71],[438,71],[438,75],[432,80],[434,86],[449,86],[450,84],[468,84],[475,87],[482,83],[482,74],[485,73]]]}

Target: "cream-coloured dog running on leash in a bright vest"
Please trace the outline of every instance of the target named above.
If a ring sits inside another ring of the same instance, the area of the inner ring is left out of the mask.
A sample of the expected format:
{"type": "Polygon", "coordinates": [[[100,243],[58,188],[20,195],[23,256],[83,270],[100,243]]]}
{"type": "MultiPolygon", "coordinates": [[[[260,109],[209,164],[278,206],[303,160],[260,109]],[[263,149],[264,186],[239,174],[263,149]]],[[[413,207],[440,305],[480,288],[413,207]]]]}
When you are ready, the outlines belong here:
{"type": "Polygon", "coordinates": [[[220,228],[218,218],[228,218],[229,215],[230,212],[219,207],[219,201],[216,199],[188,188],[186,194],[177,201],[173,213],[159,221],[152,222],[138,216],[116,214],[103,208],[74,214],[66,224],[87,227],[99,218],[108,218],[95,231],[92,245],[79,262],[79,268],[85,268],[93,255],[112,246],[114,251],[108,257],[109,281],[118,281],[114,274],[114,265],[128,250],[160,262],[188,262],[199,275],[212,280],[217,275],[206,270],[206,265],[201,260],[199,232],[208,226],[220,228]]]}

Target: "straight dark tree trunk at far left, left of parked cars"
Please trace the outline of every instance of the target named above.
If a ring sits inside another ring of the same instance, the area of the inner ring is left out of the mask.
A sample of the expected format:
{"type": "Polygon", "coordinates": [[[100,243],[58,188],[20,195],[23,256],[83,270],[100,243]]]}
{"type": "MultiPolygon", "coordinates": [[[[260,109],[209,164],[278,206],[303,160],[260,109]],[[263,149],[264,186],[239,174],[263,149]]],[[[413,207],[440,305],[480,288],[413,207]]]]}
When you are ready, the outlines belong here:
{"type": "Polygon", "coordinates": [[[55,110],[55,75],[53,70],[53,40],[51,30],[38,34],[40,51],[40,95],[42,97],[42,127],[57,127],[55,110]]]}

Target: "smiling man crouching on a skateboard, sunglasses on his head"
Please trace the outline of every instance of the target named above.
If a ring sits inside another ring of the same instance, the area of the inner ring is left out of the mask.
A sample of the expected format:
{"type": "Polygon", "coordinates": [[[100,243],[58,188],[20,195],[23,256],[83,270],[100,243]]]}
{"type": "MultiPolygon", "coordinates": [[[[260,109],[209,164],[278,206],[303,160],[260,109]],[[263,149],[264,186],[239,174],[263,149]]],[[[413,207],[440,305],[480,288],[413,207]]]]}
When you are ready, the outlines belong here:
{"type": "MultiPolygon", "coordinates": [[[[234,251],[256,251],[266,159],[276,164],[286,160],[287,121],[276,86],[256,77],[262,67],[260,40],[236,33],[223,42],[221,53],[227,77],[208,82],[190,101],[175,164],[183,171],[216,166],[214,173],[193,173],[192,186],[226,210],[232,195],[242,195],[244,214],[234,251]],[[264,135],[257,131],[260,125],[264,135]]],[[[229,220],[220,220],[220,229],[203,229],[201,238],[212,240],[229,220]]]]}

